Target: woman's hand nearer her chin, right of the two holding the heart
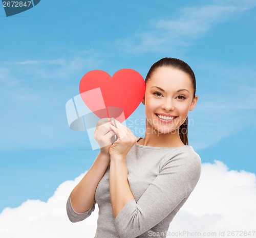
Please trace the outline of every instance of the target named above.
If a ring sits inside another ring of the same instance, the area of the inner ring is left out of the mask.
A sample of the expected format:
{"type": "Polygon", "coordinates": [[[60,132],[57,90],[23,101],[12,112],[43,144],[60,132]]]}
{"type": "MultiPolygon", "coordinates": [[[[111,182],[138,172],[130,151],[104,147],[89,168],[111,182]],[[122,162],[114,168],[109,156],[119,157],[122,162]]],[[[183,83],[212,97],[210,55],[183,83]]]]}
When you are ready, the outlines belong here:
{"type": "Polygon", "coordinates": [[[128,127],[123,126],[117,120],[115,120],[115,122],[117,128],[113,121],[110,123],[110,128],[117,134],[117,141],[110,147],[109,153],[110,156],[121,155],[125,157],[138,140],[138,137],[136,137],[128,127]]]}

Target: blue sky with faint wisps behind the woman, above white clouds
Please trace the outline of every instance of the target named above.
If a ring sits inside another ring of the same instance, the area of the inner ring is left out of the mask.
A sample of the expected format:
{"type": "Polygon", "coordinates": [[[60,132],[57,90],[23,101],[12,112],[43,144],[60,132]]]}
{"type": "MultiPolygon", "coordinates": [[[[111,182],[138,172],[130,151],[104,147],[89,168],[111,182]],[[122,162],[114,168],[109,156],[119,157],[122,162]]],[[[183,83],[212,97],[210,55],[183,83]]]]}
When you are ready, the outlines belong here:
{"type": "MultiPolygon", "coordinates": [[[[46,201],[92,165],[98,151],[86,132],[69,129],[65,111],[84,74],[132,68],[145,77],[163,57],[184,60],[196,74],[189,144],[202,162],[256,173],[255,7],[250,0],[42,0],[11,17],[0,9],[0,212],[46,201]]],[[[131,118],[143,120],[142,104],[131,118]]]]}

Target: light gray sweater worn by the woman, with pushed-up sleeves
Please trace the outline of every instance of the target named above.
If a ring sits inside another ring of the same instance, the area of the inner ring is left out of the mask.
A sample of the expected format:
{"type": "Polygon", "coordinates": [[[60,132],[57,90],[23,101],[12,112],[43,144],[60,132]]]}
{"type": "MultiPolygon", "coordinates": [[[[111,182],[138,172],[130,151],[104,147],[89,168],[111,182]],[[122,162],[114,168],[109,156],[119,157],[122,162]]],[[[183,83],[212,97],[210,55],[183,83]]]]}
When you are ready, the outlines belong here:
{"type": "MultiPolygon", "coordinates": [[[[99,207],[95,238],[166,237],[170,222],[199,180],[199,155],[191,146],[168,148],[136,143],[126,156],[126,165],[135,199],[127,202],[114,219],[109,165],[95,192],[95,203],[99,207]]],[[[69,197],[67,213],[70,221],[88,218],[95,203],[88,211],[77,213],[69,197]]]]}

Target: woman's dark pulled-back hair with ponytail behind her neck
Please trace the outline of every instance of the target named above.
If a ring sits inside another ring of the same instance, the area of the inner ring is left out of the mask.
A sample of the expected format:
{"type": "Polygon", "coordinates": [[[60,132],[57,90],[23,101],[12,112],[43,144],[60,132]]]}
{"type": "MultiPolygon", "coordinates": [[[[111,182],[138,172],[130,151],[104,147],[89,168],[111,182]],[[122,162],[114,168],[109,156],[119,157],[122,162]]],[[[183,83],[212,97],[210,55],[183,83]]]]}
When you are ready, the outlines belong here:
{"type": "MultiPolygon", "coordinates": [[[[176,69],[180,69],[184,73],[188,74],[189,77],[191,78],[192,86],[193,86],[193,89],[194,89],[194,98],[195,98],[195,96],[196,96],[196,77],[195,77],[195,74],[194,74],[193,70],[190,68],[190,66],[187,63],[185,63],[184,61],[180,60],[180,59],[167,58],[167,57],[163,58],[163,59],[160,59],[159,61],[157,61],[156,63],[154,63],[151,66],[150,70],[147,73],[145,82],[148,79],[150,79],[150,77],[155,72],[155,70],[157,68],[160,68],[160,67],[176,68],[176,69]]],[[[188,124],[188,118],[186,118],[184,123],[179,127],[180,139],[181,139],[181,141],[183,142],[184,145],[188,145],[187,124],[188,124]]]]}

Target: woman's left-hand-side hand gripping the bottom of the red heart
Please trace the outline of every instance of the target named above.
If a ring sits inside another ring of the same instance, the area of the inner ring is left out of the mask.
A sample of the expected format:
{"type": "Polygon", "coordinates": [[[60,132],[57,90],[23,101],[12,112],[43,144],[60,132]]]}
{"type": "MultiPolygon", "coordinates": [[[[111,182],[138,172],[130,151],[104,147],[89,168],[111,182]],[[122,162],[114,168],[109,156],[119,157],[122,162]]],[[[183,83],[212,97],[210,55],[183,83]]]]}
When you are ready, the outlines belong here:
{"type": "Polygon", "coordinates": [[[110,128],[110,118],[102,118],[98,121],[94,138],[97,140],[100,146],[100,153],[109,155],[109,150],[112,145],[112,136],[116,133],[110,128]]]}

